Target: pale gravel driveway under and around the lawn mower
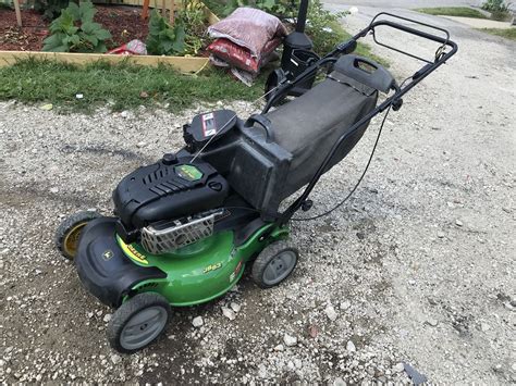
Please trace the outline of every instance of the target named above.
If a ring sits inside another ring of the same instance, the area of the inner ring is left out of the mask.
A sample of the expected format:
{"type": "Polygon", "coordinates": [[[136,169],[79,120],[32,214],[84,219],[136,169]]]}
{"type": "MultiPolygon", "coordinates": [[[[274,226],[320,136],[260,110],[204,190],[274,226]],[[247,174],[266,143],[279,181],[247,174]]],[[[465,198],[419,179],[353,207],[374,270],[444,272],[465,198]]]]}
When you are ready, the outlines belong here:
{"type": "MultiPolygon", "coordinates": [[[[357,30],[367,16],[345,23],[357,30]]],[[[245,277],[177,309],[167,335],[131,357],[108,347],[111,310],[81,287],[53,232],[74,211],[109,213],[116,182],[179,148],[195,111],[0,103],[0,382],[407,382],[408,363],[432,383],[514,383],[515,43],[451,27],[459,53],[389,116],[349,204],[293,224],[293,276],[270,290],[245,277]]],[[[413,70],[390,59],[398,78],[413,70]]],[[[311,213],[355,183],[378,123],[324,176],[311,213]]]]}

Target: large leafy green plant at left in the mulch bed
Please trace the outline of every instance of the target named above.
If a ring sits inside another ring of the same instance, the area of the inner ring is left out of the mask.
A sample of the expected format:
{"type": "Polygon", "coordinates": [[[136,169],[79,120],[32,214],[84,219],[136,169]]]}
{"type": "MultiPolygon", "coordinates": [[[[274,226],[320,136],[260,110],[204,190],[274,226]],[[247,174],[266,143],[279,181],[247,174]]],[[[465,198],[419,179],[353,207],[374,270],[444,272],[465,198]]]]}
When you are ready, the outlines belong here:
{"type": "Polygon", "coordinates": [[[94,22],[97,11],[89,1],[81,5],[71,2],[61,16],[50,24],[51,35],[44,40],[44,51],[53,52],[106,52],[109,30],[94,22]]]}

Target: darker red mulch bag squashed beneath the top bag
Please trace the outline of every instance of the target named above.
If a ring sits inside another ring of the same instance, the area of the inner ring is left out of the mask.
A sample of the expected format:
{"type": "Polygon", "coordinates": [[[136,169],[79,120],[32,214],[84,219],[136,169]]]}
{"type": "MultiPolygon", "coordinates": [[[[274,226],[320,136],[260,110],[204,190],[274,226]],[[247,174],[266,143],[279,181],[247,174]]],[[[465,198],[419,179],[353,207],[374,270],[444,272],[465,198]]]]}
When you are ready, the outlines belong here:
{"type": "MultiPolygon", "coordinates": [[[[260,67],[270,58],[272,51],[281,43],[281,38],[275,38],[268,41],[261,50],[260,58],[255,58],[251,52],[244,47],[239,47],[228,39],[217,39],[208,46],[207,50],[216,59],[222,60],[230,65],[244,70],[251,74],[258,74],[260,67]]],[[[217,61],[212,61],[214,65],[217,61]]]]}

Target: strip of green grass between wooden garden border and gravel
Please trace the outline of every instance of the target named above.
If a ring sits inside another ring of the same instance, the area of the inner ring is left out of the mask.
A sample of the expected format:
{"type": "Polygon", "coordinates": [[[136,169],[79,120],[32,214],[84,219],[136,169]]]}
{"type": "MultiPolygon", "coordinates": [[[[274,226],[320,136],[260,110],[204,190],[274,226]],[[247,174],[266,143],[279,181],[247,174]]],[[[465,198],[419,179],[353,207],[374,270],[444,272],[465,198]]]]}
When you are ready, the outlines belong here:
{"type": "Polygon", "coordinates": [[[32,59],[0,67],[0,100],[49,102],[63,111],[85,112],[106,104],[120,111],[168,103],[176,112],[199,101],[255,100],[262,94],[265,78],[262,75],[247,87],[217,69],[183,75],[165,65],[97,62],[76,66],[32,59]],[[77,94],[84,98],[77,99],[77,94]]]}

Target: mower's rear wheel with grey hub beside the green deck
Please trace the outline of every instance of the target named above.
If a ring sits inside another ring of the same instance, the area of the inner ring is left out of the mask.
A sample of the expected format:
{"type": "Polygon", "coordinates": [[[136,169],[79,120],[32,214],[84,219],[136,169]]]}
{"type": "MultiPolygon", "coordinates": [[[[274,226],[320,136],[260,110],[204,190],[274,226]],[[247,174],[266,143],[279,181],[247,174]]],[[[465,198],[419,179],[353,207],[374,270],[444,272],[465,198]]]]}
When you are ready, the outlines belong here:
{"type": "Polygon", "coordinates": [[[275,241],[258,254],[251,275],[261,288],[270,288],[286,279],[297,264],[299,252],[284,240],[275,241]]]}

